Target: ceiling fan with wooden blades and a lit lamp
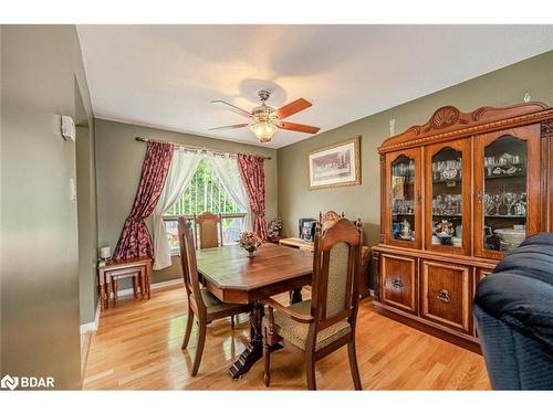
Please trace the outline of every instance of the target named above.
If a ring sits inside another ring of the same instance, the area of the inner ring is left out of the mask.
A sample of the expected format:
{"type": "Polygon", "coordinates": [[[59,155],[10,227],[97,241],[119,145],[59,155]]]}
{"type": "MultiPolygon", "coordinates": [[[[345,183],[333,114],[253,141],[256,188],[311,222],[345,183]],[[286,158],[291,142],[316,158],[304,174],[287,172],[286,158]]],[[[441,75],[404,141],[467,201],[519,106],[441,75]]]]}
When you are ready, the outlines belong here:
{"type": "Polygon", "coordinates": [[[265,102],[271,96],[270,92],[260,91],[258,92],[258,96],[261,99],[261,105],[254,107],[251,113],[225,100],[211,100],[211,104],[223,104],[226,105],[226,108],[246,118],[251,118],[252,121],[248,124],[236,124],[225,127],[210,128],[209,130],[225,130],[249,127],[261,142],[269,142],[279,128],[305,134],[316,134],[319,132],[319,129],[321,129],[317,127],[312,127],[310,125],[286,123],[282,120],[291,115],[298,114],[300,110],[309,108],[312,105],[304,98],[296,99],[288,105],[280,107],[279,109],[274,109],[273,107],[270,107],[265,104],[265,102]]]}

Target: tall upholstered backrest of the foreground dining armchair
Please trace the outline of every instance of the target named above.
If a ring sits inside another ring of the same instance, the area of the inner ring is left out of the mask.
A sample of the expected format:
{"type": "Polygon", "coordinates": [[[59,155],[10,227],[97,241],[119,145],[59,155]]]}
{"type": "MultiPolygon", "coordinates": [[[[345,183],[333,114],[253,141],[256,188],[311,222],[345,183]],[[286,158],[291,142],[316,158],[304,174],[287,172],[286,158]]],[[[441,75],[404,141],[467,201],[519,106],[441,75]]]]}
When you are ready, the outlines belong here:
{"type": "Polygon", "coordinates": [[[344,319],[355,326],[363,244],[359,223],[340,217],[317,226],[311,302],[317,330],[344,319]]]}

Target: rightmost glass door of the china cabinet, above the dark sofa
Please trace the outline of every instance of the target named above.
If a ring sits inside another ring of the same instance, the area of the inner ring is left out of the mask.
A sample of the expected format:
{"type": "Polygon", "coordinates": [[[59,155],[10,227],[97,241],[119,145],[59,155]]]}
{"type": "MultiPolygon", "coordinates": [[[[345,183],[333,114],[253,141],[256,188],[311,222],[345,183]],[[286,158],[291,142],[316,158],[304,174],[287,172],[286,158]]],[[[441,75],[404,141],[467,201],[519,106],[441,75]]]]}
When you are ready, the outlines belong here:
{"type": "Polygon", "coordinates": [[[476,254],[501,258],[539,229],[538,126],[477,137],[476,254]]]}

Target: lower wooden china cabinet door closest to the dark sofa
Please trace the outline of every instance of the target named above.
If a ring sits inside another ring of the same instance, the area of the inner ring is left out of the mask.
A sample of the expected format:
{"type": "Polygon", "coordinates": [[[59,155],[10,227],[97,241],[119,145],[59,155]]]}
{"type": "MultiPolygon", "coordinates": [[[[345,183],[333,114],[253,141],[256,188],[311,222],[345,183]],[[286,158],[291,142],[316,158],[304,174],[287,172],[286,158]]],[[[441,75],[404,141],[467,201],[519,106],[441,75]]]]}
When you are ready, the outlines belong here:
{"type": "Polygon", "coordinates": [[[470,332],[470,267],[422,261],[420,316],[470,332]]]}

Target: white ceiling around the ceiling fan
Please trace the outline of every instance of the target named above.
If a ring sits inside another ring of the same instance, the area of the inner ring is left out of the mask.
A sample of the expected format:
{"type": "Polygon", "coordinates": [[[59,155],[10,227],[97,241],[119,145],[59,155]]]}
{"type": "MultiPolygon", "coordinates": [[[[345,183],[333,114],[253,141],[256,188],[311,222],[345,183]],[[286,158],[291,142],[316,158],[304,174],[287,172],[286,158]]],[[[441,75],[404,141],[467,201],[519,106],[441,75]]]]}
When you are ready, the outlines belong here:
{"type": "MultiPolygon", "coordinates": [[[[325,131],[553,49],[553,25],[79,25],[100,118],[261,145],[246,118],[272,91],[325,131]]],[[[521,97],[522,98],[522,97],[521,97]]],[[[279,130],[279,148],[311,135],[279,130]]],[[[316,138],[314,138],[316,139],[316,138]]]]}

